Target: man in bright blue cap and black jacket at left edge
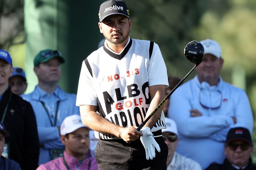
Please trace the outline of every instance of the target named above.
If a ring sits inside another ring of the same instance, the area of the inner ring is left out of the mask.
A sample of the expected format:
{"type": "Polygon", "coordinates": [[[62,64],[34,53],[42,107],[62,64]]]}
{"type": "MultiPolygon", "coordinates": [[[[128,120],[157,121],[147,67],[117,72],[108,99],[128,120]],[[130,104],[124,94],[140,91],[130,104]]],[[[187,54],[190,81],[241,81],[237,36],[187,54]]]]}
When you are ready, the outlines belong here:
{"type": "Polygon", "coordinates": [[[30,103],[12,93],[8,87],[12,73],[10,54],[0,50],[0,119],[10,133],[5,138],[5,155],[18,162],[21,169],[35,170],[39,156],[35,113],[30,103]]]}

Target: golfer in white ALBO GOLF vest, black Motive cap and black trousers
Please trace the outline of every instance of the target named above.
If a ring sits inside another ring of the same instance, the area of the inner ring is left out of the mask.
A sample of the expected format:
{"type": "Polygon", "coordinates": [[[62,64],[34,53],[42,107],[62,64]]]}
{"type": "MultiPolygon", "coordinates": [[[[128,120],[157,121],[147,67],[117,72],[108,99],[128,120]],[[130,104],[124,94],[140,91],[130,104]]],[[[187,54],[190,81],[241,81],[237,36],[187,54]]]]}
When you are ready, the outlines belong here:
{"type": "Polygon", "coordinates": [[[130,39],[132,22],[124,1],[102,3],[99,19],[106,40],[82,63],[76,100],[83,123],[99,138],[99,169],[166,169],[162,109],[136,130],[168,86],[160,49],[154,42],[130,39]]]}

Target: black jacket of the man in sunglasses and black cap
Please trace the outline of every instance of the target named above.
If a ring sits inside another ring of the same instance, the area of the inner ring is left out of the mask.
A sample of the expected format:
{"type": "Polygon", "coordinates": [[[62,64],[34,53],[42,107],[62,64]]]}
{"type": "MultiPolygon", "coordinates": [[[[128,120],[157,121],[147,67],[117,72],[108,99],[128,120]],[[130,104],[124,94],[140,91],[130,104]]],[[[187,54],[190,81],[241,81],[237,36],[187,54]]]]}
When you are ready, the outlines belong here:
{"type": "MultiPolygon", "coordinates": [[[[205,170],[237,170],[234,166],[232,166],[228,159],[226,158],[223,164],[212,163],[205,170]]],[[[243,170],[256,170],[256,165],[252,164],[252,159],[249,160],[248,166],[246,166],[243,170]]]]}

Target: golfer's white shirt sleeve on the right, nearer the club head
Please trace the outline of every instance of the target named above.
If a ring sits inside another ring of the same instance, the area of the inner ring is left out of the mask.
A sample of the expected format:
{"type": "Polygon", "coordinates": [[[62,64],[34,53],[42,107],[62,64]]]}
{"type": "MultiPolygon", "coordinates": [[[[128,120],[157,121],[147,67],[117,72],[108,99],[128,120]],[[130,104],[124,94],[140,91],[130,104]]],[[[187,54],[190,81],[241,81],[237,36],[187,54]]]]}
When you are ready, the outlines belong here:
{"type": "Polygon", "coordinates": [[[164,59],[159,46],[156,43],[154,43],[153,52],[149,60],[148,85],[166,85],[166,87],[169,86],[164,59]]]}

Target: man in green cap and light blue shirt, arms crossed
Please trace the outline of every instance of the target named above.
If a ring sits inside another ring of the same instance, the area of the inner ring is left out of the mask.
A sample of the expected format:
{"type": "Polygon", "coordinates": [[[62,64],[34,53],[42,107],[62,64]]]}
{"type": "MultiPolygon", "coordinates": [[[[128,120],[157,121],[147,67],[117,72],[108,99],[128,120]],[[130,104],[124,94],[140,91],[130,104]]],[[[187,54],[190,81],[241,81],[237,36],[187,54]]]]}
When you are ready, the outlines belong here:
{"type": "Polygon", "coordinates": [[[65,60],[59,51],[46,49],[36,54],[34,72],[38,85],[23,98],[35,110],[40,143],[39,165],[58,158],[64,150],[60,141],[60,124],[65,117],[77,114],[76,95],[65,93],[59,86],[61,68],[65,60]]]}

